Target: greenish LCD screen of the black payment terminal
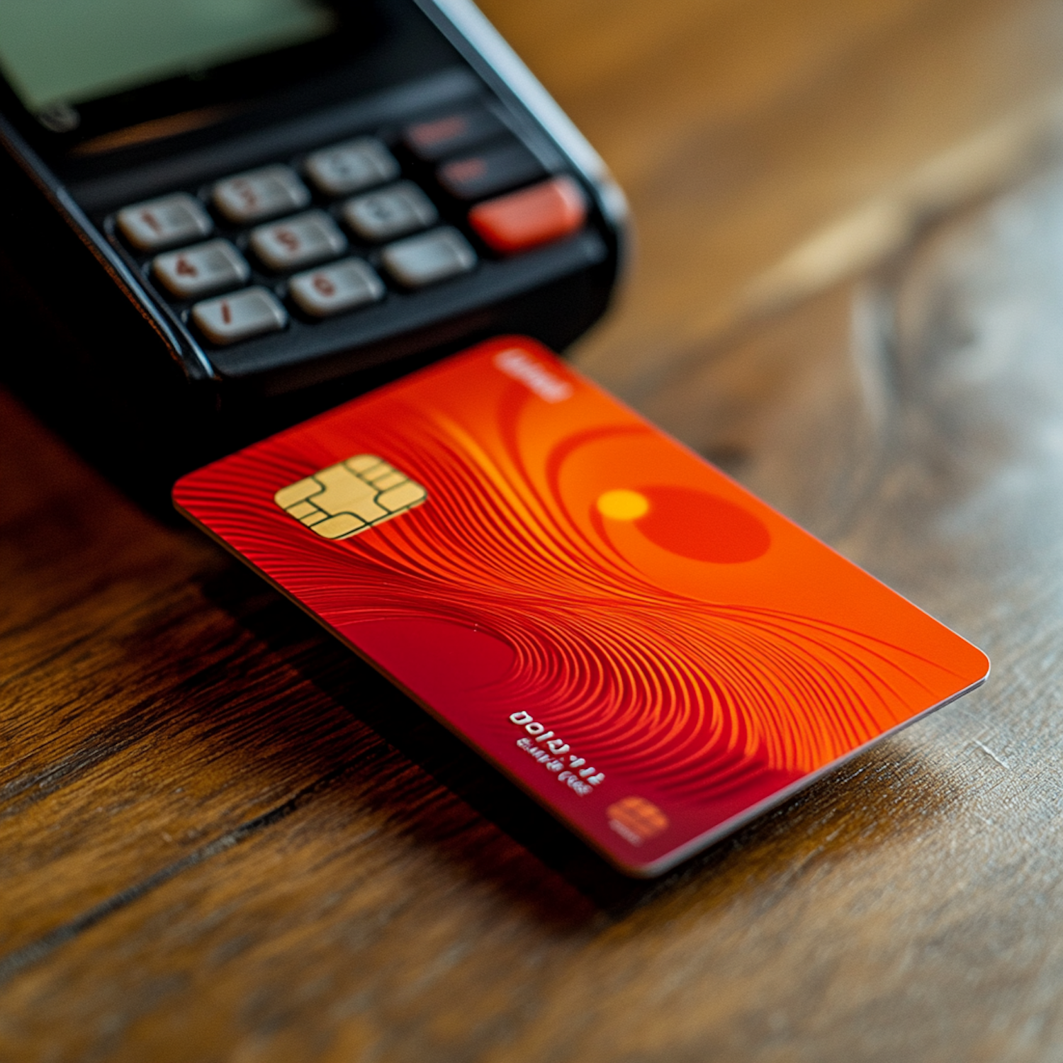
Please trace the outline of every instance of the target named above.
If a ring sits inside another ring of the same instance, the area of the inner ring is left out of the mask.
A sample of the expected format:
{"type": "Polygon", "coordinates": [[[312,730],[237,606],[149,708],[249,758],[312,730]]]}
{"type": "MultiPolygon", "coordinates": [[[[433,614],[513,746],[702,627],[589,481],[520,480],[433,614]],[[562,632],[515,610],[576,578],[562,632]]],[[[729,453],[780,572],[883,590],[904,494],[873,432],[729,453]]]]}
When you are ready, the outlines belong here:
{"type": "Polygon", "coordinates": [[[3,0],[0,67],[40,112],[305,44],[336,23],[314,0],[3,0]]]}

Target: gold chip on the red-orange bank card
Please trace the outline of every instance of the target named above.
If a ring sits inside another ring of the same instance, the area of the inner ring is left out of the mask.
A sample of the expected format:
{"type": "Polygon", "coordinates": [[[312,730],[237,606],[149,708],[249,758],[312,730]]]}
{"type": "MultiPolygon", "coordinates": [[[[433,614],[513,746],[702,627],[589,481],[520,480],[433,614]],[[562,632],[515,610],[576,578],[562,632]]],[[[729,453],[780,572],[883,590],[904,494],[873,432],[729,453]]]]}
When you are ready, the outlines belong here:
{"type": "Polygon", "coordinates": [[[427,496],[420,484],[375,454],[356,454],[282,487],[273,501],[322,538],[350,539],[427,496]]]}

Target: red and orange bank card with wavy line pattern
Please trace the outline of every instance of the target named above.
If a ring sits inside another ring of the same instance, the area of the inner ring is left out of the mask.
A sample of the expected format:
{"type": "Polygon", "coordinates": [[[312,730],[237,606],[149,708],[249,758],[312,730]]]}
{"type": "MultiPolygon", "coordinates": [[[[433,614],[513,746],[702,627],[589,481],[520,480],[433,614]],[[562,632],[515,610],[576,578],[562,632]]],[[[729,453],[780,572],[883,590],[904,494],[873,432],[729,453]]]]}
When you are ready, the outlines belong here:
{"type": "Polygon", "coordinates": [[[631,874],[667,870],[989,671],[520,337],[173,494],[631,874]]]}

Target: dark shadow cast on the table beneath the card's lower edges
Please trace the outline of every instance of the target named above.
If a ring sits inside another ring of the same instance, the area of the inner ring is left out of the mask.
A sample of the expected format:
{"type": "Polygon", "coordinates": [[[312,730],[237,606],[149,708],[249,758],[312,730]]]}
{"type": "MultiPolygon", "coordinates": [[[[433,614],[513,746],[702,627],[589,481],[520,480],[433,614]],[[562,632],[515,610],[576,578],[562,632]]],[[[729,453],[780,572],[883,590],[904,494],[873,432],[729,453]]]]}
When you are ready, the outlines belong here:
{"type": "MultiPolygon", "coordinates": [[[[630,878],[253,574],[234,563],[203,591],[271,655],[286,656],[294,644],[313,645],[298,662],[288,663],[423,773],[407,774],[398,790],[362,780],[365,784],[349,788],[352,800],[383,813],[400,832],[433,847],[463,874],[492,883],[562,932],[602,918],[623,918],[674,895],[680,885],[691,900],[704,904],[708,892],[723,901],[750,878],[793,874],[811,854],[829,860],[879,845],[885,837],[925,830],[928,820],[947,814],[961,798],[947,776],[901,741],[858,755],[660,878],[630,878]],[[275,608],[263,609],[264,594],[276,598],[275,608]],[[890,793],[891,782],[900,781],[898,769],[909,790],[905,800],[890,793]],[[880,781],[868,792],[867,780],[875,778],[880,781]],[[881,791],[877,795],[876,786],[881,791]],[[470,822],[469,810],[478,822],[470,822]],[[566,904],[558,904],[559,894],[566,904]]],[[[292,706],[292,711],[300,709],[292,706]]],[[[285,731],[297,735],[298,720],[286,721],[285,731]]],[[[351,772],[358,777],[357,762],[351,772]]]]}

